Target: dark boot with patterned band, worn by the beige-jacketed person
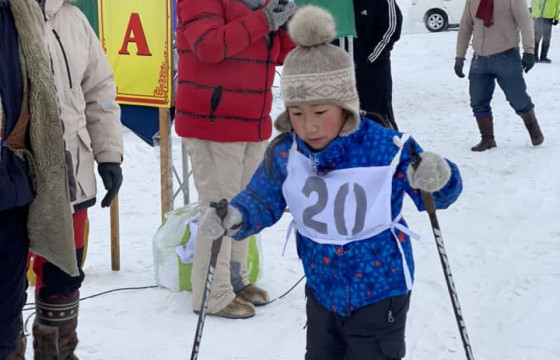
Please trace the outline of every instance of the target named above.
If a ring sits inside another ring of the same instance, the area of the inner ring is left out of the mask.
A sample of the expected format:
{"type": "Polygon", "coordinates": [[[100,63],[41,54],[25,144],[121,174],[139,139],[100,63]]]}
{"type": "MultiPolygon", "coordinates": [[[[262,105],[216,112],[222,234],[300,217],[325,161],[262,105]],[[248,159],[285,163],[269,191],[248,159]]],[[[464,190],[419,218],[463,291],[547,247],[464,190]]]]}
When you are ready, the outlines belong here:
{"type": "Polygon", "coordinates": [[[35,360],[77,360],[79,295],[64,299],[37,296],[33,323],[35,360]]]}

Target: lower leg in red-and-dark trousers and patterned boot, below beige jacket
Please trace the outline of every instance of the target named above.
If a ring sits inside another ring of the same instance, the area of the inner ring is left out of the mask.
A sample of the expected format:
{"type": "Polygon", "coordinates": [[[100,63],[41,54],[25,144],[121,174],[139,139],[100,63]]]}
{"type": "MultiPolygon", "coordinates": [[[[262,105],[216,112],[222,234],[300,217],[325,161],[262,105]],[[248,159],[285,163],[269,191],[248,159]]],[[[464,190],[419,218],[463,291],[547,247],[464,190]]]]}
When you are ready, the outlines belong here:
{"type": "Polygon", "coordinates": [[[86,233],[87,209],[72,214],[74,246],[80,275],[70,276],[45,258],[36,256],[33,349],[36,359],[77,359],[79,289],[84,280],[82,261],[86,233]]]}

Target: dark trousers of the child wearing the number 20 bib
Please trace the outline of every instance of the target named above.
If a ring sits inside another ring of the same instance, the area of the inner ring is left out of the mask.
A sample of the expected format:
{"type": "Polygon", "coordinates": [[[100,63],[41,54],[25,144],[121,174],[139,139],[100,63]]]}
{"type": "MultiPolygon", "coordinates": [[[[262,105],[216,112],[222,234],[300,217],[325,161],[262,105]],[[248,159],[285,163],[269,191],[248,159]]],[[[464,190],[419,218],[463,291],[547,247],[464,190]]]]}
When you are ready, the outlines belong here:
{"type": "Polygon", "coordinates": [[[381,300],[349,317],[328,311],[307,295],[305,360],[398,360],[405,355],[410,293],[381,300]]]}

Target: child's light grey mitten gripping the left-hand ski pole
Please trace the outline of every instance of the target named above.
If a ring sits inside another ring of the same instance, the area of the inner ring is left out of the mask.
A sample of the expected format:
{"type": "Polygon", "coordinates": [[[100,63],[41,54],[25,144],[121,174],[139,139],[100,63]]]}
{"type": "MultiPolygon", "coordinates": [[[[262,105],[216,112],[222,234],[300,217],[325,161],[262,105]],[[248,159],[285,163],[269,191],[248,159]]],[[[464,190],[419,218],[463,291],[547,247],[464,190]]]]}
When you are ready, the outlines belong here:
{"type": "Polygon", "coordinates": [[[233,206],[228,205],[227,209],[227,214],[222,220],[216,208],[209,207],[198,222],[198,230],[209,239],[217,239],[224,234],[234,236],[243,223],[243,217],[233,206]]]}

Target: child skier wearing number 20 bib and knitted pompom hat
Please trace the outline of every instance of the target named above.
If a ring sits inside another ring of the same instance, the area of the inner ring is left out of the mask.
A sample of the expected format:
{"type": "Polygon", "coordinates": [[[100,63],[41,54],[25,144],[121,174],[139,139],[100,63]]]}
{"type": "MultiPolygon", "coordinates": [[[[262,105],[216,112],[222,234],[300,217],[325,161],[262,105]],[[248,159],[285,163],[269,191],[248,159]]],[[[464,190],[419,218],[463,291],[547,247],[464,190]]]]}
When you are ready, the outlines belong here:
{"type": "Polygon", "coordinates": [[[301,7],[288,29],[297,47],[283,68],[281,134],[224,219],[209,208],[199,229],[244,239],[288,207],[307,277],[305,359],[401,359],[414,278],[404,194],[418,210],[419,190],[447,208],[462,190],[459,171],[415,144],[413,168],[412,139],[360,119],[352,60],[329,44],[336,36],[330,13],[301,7]]]}

